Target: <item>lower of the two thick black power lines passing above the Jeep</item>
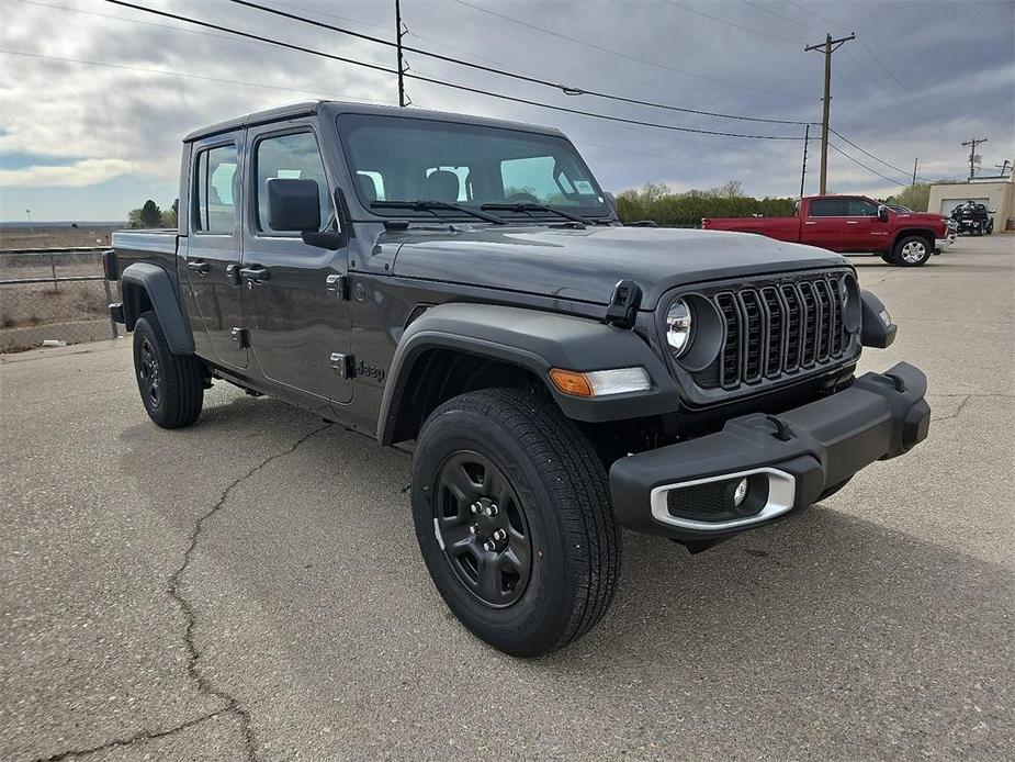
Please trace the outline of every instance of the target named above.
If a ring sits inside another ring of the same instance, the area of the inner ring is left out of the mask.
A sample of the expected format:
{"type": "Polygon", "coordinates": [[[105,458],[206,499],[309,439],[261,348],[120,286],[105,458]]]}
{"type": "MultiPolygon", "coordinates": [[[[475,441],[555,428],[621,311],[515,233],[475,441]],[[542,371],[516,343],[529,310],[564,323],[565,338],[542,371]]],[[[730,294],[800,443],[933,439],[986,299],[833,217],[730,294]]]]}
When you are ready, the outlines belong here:
{"type": "MultiPolygon", "coordinates": [[[[387,66],[382,66],[382,65],[380,65],[380,64],[368,64],[368,63],[365,63],[365,61],[360,61],[360,60],[356,60],[356,59],[352,59],[352,58],[347,58],[347,57],[345,57],[345,56],[338,56],[338,55],[335,55],[335,54],[332,54],[332,53],[325,53],[325,52],[323,52],[323,51],[315,51],[315,49],[313,49],[313,48],[304,47],[304,46],[302,46],[302,45],[295,45],[295,44],[293,44],[293,43],[286,43],[286,42],[280,41],[280,40],[273,40],[273,38],[271,38],[271,37],[264,37],[264,36],[261,36],[261,35],[252,34],[252,33],[250,33],[250,32],[241,32],[241,31],[239,31],[239,30],[234,30],[234,29],[230,29],[230,27],[228,27],[228,26],[222,26],[221,24],[213,24],[212,22],[208,22],[208,21],[201,21],[201,20],[198,20],[198,19],[191,19],[191,18],[183,16],[183,15],[179,15],[179,14],[176,14],[176,13],[169,13],[168,11],[159,11],[159,10],[156,10],[156,9],[153,9],[153,8],[145,8],[144,5],[136,5],[136,4],[131,3],[131,2],[125,2],[125,0],[106,0],[106,2],[111,2],[111,3],[115,4],[115,5],[123,5],[124,8],[132,8],[132,9],[134,9],[134,10],[142,11],[142,12],[144,12],[144,13],[151,13],[151,14],[154,14],[154,15],[163,16],[163,18],[168,18],[168,19],[173,19],[173,20],[176,20],[176,21],[184,21],[184,22],[187,22],[187,23],[196,24],[196,25],[199,25],[199,26],[204,26],[204,27],[206,27],[206,29],[214,29],[214,30],[218,30],[218,31],[221,31],[221,32],[227,32],[227,33],[229,33],[229,34],[235,34],[235,35],[238,35],[238,36],[240,36],[240,37],[247,37],[247,38],[249,38],[249,40],[259,40],[259,41],[261,41],[261,42],[267,42],[267,43],[270,43],[270,44],[272,44],[272,45],[278,45],[279,47],[283,47],[283,48],[286,48],[286,49],[300,51],[300,52],[302,52],[302,53],[307,53],[307,54],[309,54],[309,55],[319,56],[319,57],[322,57],[322,58],[328,58],[328,59],[330,59],[330,60],[338,60],[338,61],[341,61],[341,63],[343,63],[343,64],[351,64],[351,65],[353,65],[353,66],[364,67],[364,68],[368,68],[368,69],[372,69],[372,70],[374,70],[374,71],[382,71],[382,72],[384,72],[384,74],[390,74],[390,75],[397,75],[397,72],[398,72],[397,69],[393,69],[393,68],[387,67],[387,66]]],[[[553,111],[560,111],[560,112],[563,112],[563,113],[577,114],[577,115],[580,115],[580,116],[590,116],[590,117],[593,117],[593,119],[601,119],[601,120],[607,120],[607,121],[611,121],[611,122],[621,122],[621,123],[624,123],[624,124],[639,124],[639,125],[646,126],[646,127],[654,127],[654,128],[656,128],[656,130],[669,130],[669,131],[674,131],[674,132],[693,133],[693,134],[698,134],[698,135],[714,135],[714,136],[718,136],[718,137],[738,137],[738,138],[757,139],[757,141],[801,141],[801,139],[803,139],[802,137],[798,137],[798,136],[794,136],[794,135],[753,135],[753,134],[743,134],[743,133],[721,132],[721,131],[717,131],[717,130],[698,130],[698,128],[695,128],[695,127],[678,127],[678,126],[675,126],[675,125],[672,125],[672,124],[658,124],[658,123],[655,123],[655,122],[646,122],[646,121],[643,121],[643,120],[625,119],[625,117],[623,117],[623,116],[614,116],[614,115],[610,115],[610,114],[600,114],[600,113],[596,113],[596,112],[591,112],[591,111],[583,111],[583,110],[580,110],[580,109],[568,109],[568,108],[562,107],[562,105],[553,105],[553,104],[550,104],[550,103],[542,103],[542,102],[540,102],[540,101],[533,101],[533,100],[526,99],[526,98],[518,98],[518,97],[515,97],[515,96],[508,96],[508,94],[505,94],[505,93],[494,92],[494,91],[492,91],[492,90],[483,90],[483,89],[481,89],[481,88],[472,88],[472,87],[467,87],[467,86],[464,86],[464,85],[459,85],[459,83],[455,83],[455,82],[449,82],[449,81],[441,80],[441,79],[436,79],[436,78],[432,78],[432,77],[424,77],[424,76],[421,76],[421,75],[411,74],[411,72],[405,72],[404,76],[405,76],[406,78],[411,78],[411,79],[416,79],[416,80],[424,81],[424,82],[430,82],[431,85],[438,85],[438,86],[440,86],[440,87],[451,88],[451,89],[460,90],[460,91],[463,91],[463,92],[472,92],[472,93],[475,93],[475,94],[487,96],[487,97],[489,97],[489,98],[498,98],[498,99],[500,99],[500,100],[511,101],[511,102],[515,102],[515,103],[523,103],[523,104],[527,104],[527,105],[534,105],[534,107],[538,107],[538,108],[541,108],[541,109],[550,109],[550,110],[553,110],[553,111]]]]}

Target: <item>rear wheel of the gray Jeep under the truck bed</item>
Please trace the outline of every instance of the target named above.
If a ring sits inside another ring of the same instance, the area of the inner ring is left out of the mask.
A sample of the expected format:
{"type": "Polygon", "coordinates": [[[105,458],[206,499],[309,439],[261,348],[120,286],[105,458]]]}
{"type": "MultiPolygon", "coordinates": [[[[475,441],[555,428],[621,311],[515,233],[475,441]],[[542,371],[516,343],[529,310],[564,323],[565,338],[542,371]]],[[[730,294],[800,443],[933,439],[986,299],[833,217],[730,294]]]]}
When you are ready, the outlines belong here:
{"type": "Polygon", "coordinates": [[[134,376],[148,417],[162,428],[190,426],[201,415],[204,367],[193,355],[177,355],[169,348],[150,310],[142,313],[134,326],[134,376]],[[149,357],[156,363],[157,394],[151,392],[149,357]]]}

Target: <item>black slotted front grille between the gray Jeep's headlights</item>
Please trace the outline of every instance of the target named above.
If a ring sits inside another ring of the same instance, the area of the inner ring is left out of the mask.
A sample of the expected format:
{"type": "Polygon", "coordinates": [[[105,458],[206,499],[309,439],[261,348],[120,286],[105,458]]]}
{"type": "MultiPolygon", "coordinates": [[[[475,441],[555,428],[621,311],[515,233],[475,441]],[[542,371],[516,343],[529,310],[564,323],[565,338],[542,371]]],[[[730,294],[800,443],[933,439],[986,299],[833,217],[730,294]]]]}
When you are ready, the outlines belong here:
{"type": "Polygon", "coordinates": [[[712,365],[693,373],[695,383],[735,390],[846,359],[852,337],[843,320],[842,278],[811,274],[709,294],[724,337],[712,365]]]}

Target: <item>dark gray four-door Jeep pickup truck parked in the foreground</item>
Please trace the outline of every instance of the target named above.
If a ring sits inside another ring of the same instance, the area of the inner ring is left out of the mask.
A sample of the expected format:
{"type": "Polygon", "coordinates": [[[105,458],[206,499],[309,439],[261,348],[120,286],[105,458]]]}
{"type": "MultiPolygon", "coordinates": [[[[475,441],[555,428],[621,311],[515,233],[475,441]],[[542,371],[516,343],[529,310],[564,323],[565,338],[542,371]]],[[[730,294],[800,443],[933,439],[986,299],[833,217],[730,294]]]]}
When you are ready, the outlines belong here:
{"type": "Polygon", "coordinates": [[[602,617],[620,526],[703,550],[927,436],[921,371],[855,376],[895,326],[846,259],[623,226],[555,130],[338,102],[216,124],[183,141],[179,229],[104,264],[156,424],[222,380],[410,449],[437,590],[515,655],[602,617]]]}

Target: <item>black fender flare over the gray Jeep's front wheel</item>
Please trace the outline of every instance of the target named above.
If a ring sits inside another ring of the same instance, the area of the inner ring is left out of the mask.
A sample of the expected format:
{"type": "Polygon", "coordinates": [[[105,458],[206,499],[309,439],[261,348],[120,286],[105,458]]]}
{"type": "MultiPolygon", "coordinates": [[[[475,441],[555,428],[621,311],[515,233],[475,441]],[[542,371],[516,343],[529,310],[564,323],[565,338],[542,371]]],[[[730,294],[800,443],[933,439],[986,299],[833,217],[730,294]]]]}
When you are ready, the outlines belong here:
{"type": "Polygon", "coordinates": [[[406,390],[419,381],[416,361],[444,348],[507,362],[530,371],[550,391],[564,415],[600,423],[676,411],[679,391],[666,366],[635,333],[598,321],[521,307],[440,304],[413,321],[398,341],[381,402],[377,436],[391,444],[406,390]],[[564,394],[549,371],[644,368],[651,388],[605,397],[564,394]]]}

